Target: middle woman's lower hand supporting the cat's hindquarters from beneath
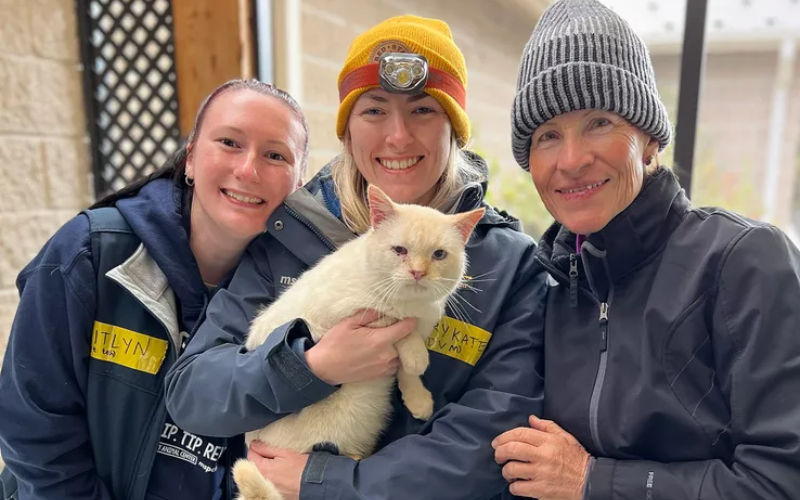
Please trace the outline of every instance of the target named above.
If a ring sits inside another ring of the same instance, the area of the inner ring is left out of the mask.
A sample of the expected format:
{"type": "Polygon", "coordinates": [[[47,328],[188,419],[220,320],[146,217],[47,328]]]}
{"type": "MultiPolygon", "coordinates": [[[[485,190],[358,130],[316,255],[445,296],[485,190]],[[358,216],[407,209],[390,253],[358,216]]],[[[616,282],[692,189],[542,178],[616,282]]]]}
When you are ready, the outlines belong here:
{"type": "Polygon", "coordinates": [[[272,481],[283,500],[300,498],[300,483],[308,455],[253,441],[247,450],[247,459],[256,464],[262,476],[272,481]]]}

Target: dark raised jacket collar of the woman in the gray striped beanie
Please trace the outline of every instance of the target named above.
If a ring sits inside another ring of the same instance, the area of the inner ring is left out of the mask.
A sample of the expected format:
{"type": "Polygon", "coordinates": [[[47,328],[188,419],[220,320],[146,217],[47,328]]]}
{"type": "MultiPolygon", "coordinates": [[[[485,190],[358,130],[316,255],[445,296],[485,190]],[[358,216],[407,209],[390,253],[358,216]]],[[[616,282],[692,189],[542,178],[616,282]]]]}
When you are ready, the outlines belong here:
{"type": "MultiPolygon", "coordinates": [[[[689,200],[675,174],[659,169],[645,179],[625,210],[582,242],[581,253],[585,258],[602,256],[610,278],[617,281],[658,252],[688,210],[689,200]]],[[[576,235],[556,222],[542,236],[536,257],[566,276],[575,253],[576,235]]]]}

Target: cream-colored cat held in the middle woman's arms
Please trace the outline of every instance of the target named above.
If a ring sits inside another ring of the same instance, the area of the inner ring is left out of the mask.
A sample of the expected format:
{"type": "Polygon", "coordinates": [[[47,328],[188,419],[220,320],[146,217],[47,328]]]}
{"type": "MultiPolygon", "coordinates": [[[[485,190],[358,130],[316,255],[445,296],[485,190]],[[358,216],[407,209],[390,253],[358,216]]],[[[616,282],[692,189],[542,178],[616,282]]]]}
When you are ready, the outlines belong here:
{"type": "MultiPolygon", "coordinates": [[[[433,399],[420,379],[428,367],[426,340],[461,283],[464,247],[484,209],[445,215],[428,207],[395,204],[374,186],[368,189],[368,199],[372,229],[322,259],[261,312],[245,345],[256,349],[273,330],[295,318],[303,318],[318,341],[363,309],[383,315],[371,326],[416,317],[416,330],[395,344],[401,364],[397,383],[411,414],[428,419],[433,399]]],[[[324,400],[247,433],[247,443],[258,439],[308,453],[315,444],[329,442],[343,455],[365,457],[389,420],[394,380],[342,384],[324,400]]],[[[252,462],[239,460],[233,475],[240,500],[281,499],[252,462]]]]}

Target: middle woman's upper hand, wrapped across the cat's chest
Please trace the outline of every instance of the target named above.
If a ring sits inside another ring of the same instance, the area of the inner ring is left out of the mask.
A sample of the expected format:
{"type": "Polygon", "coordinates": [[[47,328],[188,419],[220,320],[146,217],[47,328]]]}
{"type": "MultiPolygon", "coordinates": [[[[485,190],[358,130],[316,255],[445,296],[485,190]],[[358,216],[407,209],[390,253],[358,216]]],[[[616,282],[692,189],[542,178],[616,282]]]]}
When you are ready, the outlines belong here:
{"type": "Polygon", "coordinates": [[[357,312],[331,328],[306,352],[314,375],[331,385],[394,375],[400,366],[394,344],[414,331],[417,322],[405,318],[381,328],[366,326],[380,318],[376,311],[357,312]]]}

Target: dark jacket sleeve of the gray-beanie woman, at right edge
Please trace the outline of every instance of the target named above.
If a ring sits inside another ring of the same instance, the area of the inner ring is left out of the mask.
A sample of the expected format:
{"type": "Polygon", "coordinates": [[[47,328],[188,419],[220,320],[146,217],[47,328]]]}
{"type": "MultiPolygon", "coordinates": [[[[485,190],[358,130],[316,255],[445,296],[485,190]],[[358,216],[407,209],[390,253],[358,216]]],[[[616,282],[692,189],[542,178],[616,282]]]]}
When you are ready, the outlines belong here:
{"type": "Polygon", "coordinates": [[[731,463],[598,458],[589,500],[788,500],[800,491],[800,252],[778,229],[735,241],[713,317],[716,379],[730,411],[731,463]]]}

